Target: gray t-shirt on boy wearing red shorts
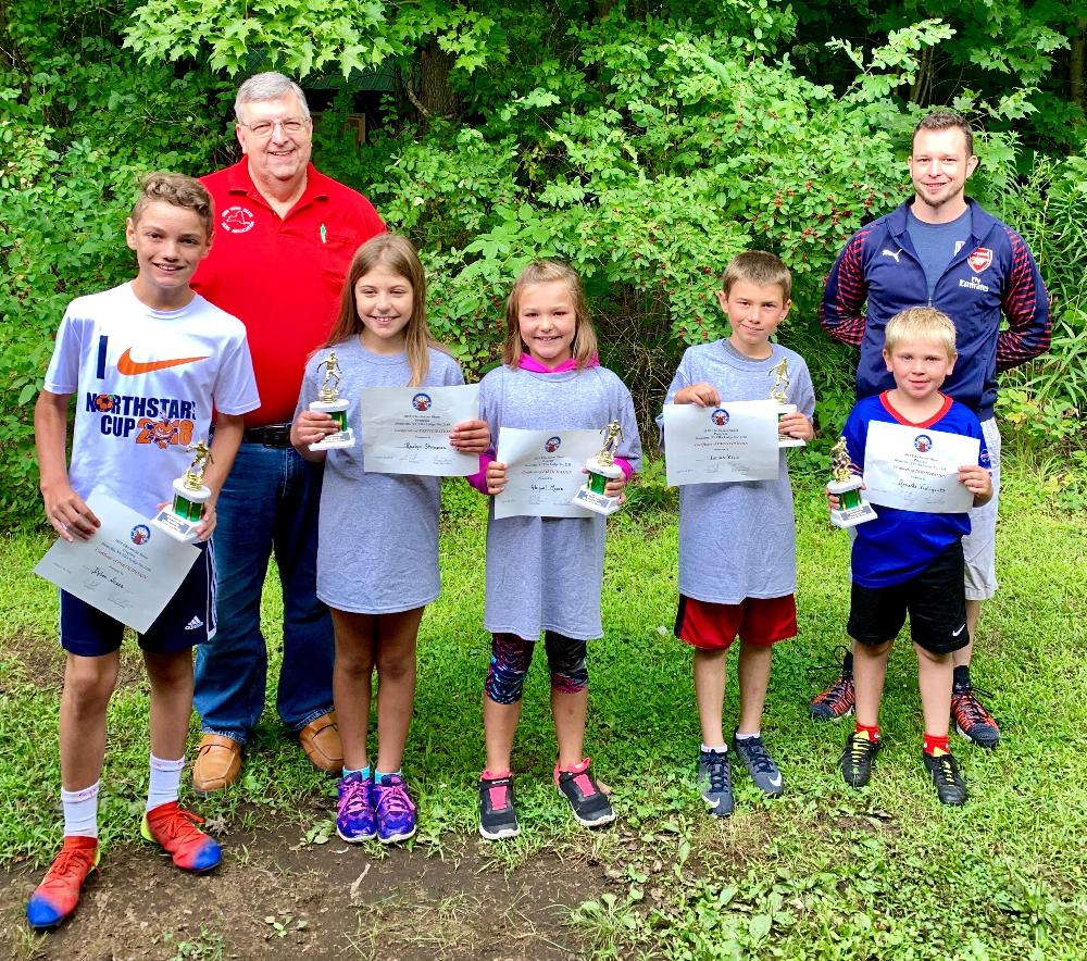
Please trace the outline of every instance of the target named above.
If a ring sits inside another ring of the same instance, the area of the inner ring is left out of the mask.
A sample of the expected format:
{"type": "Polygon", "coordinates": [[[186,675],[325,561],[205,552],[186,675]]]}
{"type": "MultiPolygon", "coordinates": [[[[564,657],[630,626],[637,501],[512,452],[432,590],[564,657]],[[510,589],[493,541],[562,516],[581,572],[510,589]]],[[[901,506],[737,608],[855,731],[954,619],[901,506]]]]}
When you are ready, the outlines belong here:
{"type": "MultiPolygon", "coordinates": [[[[772,344],[766,360],[751,360],[727,340],[688,347],[664,402],[684,387],[705,382],[724,401],[765,400],[771,369],[788,363],[788,403],[811,419],[815,411],[808,364],[799,353],[772,344]]],[[[663,430],[663,414],[657,419],[663,430]]],[[[664,449],[663,434],[661,449],[664,449]]],[[[686,484],[679,488],[679,592],[696,600],[738,604],[745,598],[785,597],[797,589],[792,487],[779,453],[774,480],[686,484]]]]}

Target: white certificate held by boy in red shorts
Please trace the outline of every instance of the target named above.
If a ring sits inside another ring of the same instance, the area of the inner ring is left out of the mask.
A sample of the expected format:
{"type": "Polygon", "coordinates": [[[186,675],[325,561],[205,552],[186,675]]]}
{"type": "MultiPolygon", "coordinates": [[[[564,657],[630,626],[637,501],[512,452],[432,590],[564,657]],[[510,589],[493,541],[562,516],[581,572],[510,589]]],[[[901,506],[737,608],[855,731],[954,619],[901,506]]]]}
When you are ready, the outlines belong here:
{"type": "Polygon", "coordinates": [[[777,477],[777,404],[726,401],[716,407],[664,404],[669,486],[777,477]]]}

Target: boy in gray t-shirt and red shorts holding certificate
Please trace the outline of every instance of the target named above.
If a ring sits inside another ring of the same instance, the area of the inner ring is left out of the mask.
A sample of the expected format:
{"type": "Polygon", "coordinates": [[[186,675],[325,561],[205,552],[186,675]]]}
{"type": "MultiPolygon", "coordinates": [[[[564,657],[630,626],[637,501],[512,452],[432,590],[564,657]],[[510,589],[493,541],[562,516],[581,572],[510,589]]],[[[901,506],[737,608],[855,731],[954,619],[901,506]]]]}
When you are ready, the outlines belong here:
{"type": "MultiPolygon", "coordinates": [[[[783,372],[786,402],[778,433],[814,435],[815,395],[803,358],[770,338],[789,312],[792,278],[771,253],[748,251],[725,269],[721,307],[727,339],[687,348],[666,403],[716,405],[764,400],[783,372]]],[[[663,415],[658,419],[663,428],[663,415]]],[[[661,447],[664,444],[662,440],[661,447]]],[[[734,742],[754,783],[770,797],[782,774],[762,742],[760,720],[770,683],[772,646],[797,634],[796,528],[792,488],[779,452],[773,480],[691,484],[679,489],[679,609],[675,634],[694,648],[695,696],[702,728],[698,783],[710,812],[733,812],[728,746],[722,731],[725,667],[737,635],[740,716],[734,742]]]]}

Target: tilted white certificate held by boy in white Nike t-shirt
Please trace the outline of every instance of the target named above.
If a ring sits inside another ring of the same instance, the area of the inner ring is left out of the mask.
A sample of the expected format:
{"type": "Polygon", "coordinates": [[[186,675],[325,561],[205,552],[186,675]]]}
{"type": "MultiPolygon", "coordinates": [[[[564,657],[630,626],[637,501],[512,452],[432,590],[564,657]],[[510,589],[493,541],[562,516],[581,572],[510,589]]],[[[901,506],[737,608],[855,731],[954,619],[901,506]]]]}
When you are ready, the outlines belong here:
{"type": "Polygon", "coordinates": [[[200,550],[101,488],[90,492],[87,507],[102,526],[87,540],[58,538],[34,573],[142,634],[182,586],[200,550]]]}

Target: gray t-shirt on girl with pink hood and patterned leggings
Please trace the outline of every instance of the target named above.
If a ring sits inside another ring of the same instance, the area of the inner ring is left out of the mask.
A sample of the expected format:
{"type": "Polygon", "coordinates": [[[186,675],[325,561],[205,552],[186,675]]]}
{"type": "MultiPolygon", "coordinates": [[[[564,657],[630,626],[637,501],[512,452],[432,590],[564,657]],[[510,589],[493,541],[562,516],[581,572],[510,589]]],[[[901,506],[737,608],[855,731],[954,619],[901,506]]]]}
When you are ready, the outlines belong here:
{"type": "MultiPolygon", "coordinates": [[[[600,429],[617,420],[617,455],[641,469],[641,440],[630,391],[604,367],[561,374],[496,367],[479,383],[479,410],[498,444],[500,427],[600,429]]],[[[544,631],[589,640],[603,636],[600,589],[604,517],[495,519],[487,522],[487,603],[493,634],[536,640],[544,631]]]]}

